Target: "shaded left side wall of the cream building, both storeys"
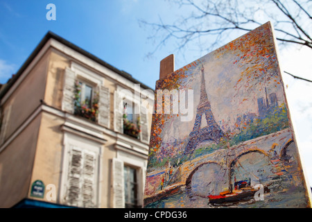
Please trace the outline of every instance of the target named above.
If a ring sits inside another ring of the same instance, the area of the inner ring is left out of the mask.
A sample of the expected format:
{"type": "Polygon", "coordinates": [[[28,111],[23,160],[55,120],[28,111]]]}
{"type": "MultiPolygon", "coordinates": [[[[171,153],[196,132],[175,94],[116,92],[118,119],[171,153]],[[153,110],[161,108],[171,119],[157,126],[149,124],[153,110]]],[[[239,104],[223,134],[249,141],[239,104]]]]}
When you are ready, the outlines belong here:
{"type": "Polygon", "coordinates": [[[10,114],[3,144],[0,144],[0,207],[12,207],[26,198],[37,146],[41,115],[35,113],[44,98],[49,52],[31,64],[1,100],[10,114]]]}

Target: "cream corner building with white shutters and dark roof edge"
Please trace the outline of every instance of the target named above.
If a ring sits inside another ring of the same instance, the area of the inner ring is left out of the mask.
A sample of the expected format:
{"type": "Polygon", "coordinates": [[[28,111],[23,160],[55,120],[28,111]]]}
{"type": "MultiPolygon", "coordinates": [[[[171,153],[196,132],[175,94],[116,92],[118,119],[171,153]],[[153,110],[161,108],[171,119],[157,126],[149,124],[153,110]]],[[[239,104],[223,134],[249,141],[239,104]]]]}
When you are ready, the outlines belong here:
{"type": "Polygon", "coordinates": [[[0,207],[142,206],[153,89],[49,32],[0,90],[0,207]]]}

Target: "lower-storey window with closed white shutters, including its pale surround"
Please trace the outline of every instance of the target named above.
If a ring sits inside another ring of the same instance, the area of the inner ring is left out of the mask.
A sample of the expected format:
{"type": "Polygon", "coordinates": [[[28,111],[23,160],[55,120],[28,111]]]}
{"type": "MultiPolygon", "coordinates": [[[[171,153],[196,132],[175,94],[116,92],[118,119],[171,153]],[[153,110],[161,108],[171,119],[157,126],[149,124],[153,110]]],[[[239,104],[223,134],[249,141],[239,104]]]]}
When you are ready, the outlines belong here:
{"type": "Polygon", "coordinates": [[[60,202],[75,207],[98,207],[101,145],[64,134],[60,202]]]}

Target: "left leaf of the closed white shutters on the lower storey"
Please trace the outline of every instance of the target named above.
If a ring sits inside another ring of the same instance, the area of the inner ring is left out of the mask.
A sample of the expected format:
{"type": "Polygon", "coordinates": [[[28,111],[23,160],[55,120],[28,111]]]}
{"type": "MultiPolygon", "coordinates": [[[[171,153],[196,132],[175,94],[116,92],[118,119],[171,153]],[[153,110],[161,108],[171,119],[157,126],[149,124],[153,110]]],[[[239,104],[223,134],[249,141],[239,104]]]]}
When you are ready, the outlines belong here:
{"type": "Polygon", "coordinates": [[[81,174],[82,174],[82,152],[75,146],[71,146],[69,151],[69,169],[67,181],[67,203],[78,207],[80,200],[81,189],[81,174]]]}

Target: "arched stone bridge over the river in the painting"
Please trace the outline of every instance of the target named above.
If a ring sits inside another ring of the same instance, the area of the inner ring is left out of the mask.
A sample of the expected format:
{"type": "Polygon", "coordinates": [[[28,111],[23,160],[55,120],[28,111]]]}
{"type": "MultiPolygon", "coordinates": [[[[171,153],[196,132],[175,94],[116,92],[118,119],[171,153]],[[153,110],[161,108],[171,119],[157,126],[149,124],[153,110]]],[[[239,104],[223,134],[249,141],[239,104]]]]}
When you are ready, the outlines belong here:
{"type": "Polygon", "coordinates": [[[168,194],[173,194],[181,187],[191,188],[194,174],[198,171],[198,169],[207,164],[216,164],[220,169],[224,169],[226,171],[229,167],[236,164],[240,157],[252,152],[262,153],[271,161],[281,160],[286,158],[288,148],[293,148],[293,146],[293,133],[290,128],[286,128],[270,135],[250,139],[236,146],[231,146],[227,149],[219,149],[213,153],[202,155],[193,160],[183,162],[183,164],[174,169],[171,177],[162,189],[155,186],[153,178],[157,178],[156,182],[161,181],[162,177],[166,176],[166,174],[168,175],[167,172],[170,169],[150,172],[146,176],[149,184],[146,186],[147,195],[144,200],[146,202],[145,204],[153,203],[153,201],[159,198],[168,194]]]}

